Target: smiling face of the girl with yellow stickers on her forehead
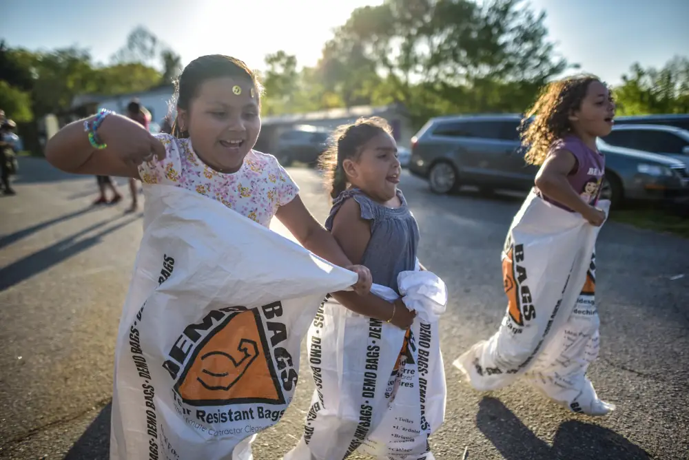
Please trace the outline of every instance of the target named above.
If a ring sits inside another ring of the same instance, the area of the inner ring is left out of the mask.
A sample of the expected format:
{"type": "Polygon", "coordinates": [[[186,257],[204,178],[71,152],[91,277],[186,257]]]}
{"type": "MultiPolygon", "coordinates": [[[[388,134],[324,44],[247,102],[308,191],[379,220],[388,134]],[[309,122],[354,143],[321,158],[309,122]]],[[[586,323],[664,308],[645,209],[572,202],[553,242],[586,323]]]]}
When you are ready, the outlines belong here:
{"type": "Polygon", "coordinates": [[[189,103],[178,107],[198,158],[221,173],[238,171],[260,133],[258,96],[251,79],[221,77],[203,82],[189,103]]]}

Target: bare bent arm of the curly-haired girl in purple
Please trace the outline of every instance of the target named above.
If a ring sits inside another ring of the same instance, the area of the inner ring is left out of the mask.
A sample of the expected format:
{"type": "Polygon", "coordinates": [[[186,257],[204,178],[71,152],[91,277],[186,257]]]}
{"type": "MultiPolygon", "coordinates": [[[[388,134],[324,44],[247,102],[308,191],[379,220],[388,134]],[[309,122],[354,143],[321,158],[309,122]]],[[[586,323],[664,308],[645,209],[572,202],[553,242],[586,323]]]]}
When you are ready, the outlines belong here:
{"type": "Polygon", "coordinates": [[[558,150],[548,155],[538,174],[536,187],[548,198],[586,217],[591,207],[584,202],[567,180],[568,174],[576,167],[575,156],[567,150],[558,150]]]}

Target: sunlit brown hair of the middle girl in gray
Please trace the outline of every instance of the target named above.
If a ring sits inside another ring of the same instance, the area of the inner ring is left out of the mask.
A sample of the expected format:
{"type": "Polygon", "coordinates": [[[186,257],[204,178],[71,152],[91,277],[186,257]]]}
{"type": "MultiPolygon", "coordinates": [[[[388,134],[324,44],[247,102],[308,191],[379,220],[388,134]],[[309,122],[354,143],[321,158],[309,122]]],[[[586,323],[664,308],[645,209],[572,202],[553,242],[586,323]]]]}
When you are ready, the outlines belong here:
{"type": "Polygon", "coordinates": [[[349,183],[342,162],[347,158],[356,160],[361,154],[361,147],[381,133],[392,134],[392,128],[380,116],[362,117],[351,125],[341,125],[335,129],[328,149],[318,158],[331,198],[337,198],[349,183]]]}

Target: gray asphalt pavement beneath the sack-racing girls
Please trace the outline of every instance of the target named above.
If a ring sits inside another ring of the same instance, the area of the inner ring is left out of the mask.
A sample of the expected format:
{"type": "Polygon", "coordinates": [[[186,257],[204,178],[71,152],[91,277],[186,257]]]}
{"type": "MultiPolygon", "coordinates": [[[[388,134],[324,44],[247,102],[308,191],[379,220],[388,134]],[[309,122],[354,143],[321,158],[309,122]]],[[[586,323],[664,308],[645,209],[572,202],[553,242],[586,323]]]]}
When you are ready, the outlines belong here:
{"type": "MultiPolygon", "coordinates": [[[[92,207],[93,177],[39,158],[21,158],[19,172],[17,196],[0,197],[0,459],[107,459],[115,336],[141,214],[125,213],[125,180],[121,204],[92,207]]],[[[318,175],[290,173],[325,219],[318,175]]],[[[434,196],[407,174],[401,187],[420,224],[420,260],[450,294],[436,459],[459,459],[465,448],[471,460],[689,459],[689,240],[606,223],[597,247],[601,355],[589,375],[617,410],[573,415],[522,384],[475,392],[451,366],[500,324],[500,250],[523,197],[434,196]]],[[[301,434],[313,390],[304,357],[296,399],[254,443],[257,460],[282,459],[301,434]]]]}

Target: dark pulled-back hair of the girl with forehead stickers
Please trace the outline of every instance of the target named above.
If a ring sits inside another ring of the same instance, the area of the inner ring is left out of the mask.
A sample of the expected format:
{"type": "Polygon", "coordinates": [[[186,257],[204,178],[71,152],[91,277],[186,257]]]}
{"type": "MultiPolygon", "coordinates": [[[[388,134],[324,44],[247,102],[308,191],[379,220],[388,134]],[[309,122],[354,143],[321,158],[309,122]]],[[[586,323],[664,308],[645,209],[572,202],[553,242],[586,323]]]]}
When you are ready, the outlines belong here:
{"type": "MultiPolygon", "coordinates": [[[[176,94],[176,106],[178,109],[188,110],[189,105],[198,94],[198,89],[207,80],[221,79],[223,77],[245,78],[251,81],[258,98],[258,109],[260,109],[260,96],[263,94],[263,86],[258,81],[256,72],[239,59],[223,54],[209,54],[200,56],[184,67],[179,79],[174,83],[176,94]]],[[[172,112],[172,101],[170,101],[170,112],[172,112]]],[[[172,113],[168,114],[172,118],[172,113]]],[[[182,131],[178,117],[174,117],[172,122],[172,135],[176,138],[188,138],[187,129],[182,131]]]]}

